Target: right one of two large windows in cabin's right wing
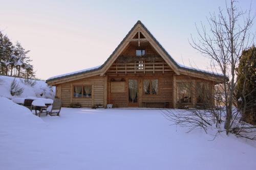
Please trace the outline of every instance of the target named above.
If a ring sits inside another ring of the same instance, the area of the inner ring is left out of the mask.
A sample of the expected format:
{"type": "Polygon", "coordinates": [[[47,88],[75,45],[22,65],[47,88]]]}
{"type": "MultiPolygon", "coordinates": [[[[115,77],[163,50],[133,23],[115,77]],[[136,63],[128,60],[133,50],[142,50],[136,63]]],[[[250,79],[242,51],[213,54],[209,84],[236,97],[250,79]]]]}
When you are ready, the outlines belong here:
{"type": "Polygon", "coordinates": [[[208,103],[210,99],[209,83],[207,82],[197,82],[196,83],[197,92],[197,103],[208,103]]]}

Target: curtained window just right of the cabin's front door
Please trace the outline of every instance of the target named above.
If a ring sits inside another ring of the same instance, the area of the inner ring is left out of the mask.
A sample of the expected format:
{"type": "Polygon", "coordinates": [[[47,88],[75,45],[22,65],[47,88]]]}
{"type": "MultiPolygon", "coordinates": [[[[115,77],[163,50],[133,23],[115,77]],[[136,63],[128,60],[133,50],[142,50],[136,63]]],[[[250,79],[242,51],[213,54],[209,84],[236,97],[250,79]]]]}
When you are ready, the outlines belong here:
{"type": "Polygon", "coordinates": [[[159,84],[158,79],[143,81],[144,94],[158,94],[159,84]]]}

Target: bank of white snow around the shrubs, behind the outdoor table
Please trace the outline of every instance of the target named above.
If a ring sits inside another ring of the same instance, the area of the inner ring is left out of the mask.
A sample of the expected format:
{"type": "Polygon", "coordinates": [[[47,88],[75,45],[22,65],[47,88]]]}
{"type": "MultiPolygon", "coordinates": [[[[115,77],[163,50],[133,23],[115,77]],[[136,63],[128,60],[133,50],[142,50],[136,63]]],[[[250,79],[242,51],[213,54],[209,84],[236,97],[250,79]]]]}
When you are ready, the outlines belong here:
{"type": "Polygon", "coordinates": [[[27,98],[28,96],[54,99],[55,87],[50,87],[46,82],[39,80],[35,81],[36,84],[34,86],[30,86],[29,84],[24,83],[24,79],[22,78],[15,78],[15,80],[18,86],[24,89],[23,93],[18,96],[12,96],[10,90],[13,80],[13,77],[0,76],[0,96],[8,99],[27,98]]]}

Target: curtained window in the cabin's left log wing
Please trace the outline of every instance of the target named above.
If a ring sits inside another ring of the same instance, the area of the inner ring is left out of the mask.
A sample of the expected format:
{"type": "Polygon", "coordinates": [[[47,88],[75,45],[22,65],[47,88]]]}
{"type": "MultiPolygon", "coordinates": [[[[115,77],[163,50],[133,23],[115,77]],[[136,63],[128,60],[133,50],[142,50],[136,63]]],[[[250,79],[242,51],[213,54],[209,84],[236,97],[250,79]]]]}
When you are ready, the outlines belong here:
{"type": "Polygon", "coordinates": [[[74,86],[74,98],[92,98],[92,86],[80,85],[74,86]]]}

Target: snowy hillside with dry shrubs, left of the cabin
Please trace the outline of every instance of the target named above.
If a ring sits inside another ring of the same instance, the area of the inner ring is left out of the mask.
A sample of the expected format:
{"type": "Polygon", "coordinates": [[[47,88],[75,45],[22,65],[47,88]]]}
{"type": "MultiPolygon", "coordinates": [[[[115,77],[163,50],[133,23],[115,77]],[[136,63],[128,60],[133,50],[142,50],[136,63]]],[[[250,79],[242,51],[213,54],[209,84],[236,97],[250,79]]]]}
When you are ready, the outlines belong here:
{"type": "Polygon", "coordinates": [[[45,81],[0,76],[0,96],[8,99],[27,96],[54,99],[55,87],[48,86],[45,81]]]}

